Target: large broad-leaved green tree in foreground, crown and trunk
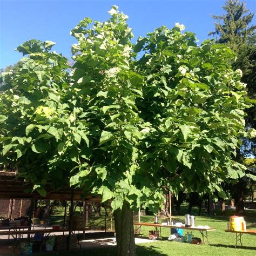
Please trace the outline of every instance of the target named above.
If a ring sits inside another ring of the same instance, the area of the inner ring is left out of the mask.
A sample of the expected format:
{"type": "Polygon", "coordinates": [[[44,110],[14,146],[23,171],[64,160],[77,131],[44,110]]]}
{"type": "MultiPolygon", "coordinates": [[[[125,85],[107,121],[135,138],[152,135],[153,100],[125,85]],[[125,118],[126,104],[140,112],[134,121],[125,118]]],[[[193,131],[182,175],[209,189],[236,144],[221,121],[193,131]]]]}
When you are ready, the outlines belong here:
{"type": "Polygon", "coordinates": [[[157,213],[166,189],[225,198],[221,183],[245,175],[233,159],[251,104],[226,46],[198,46],[179,24],[134,45],[128,17],[109,13],[71,31],[70,72],[50,41],[17,48],[18,71],[2,74],[1,164],[43,195],[70,184],[111,200],[117,254],[136,255],[132,210],[157,213]]]}

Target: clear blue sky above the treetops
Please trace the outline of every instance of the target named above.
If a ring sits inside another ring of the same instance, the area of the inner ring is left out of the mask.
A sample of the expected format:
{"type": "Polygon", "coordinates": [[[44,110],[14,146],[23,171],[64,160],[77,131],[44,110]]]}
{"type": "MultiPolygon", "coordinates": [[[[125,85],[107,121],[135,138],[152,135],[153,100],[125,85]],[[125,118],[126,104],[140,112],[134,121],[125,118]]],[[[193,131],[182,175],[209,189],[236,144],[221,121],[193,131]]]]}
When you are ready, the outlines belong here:
{"type": "MultiPolygon", "coordinates": [[[[256,12],[256,0],[246,0],[247,9],[256,12]]],[[[214,30],[211,14],[220,15],[225,0],[0,0],[0,68],[16,63],[22,54],[15,48],[35,38],[57,44],[53,50],[71,57],[75,38],[69,35],[84,17],[105,21],[111,5],[129,16],[134,42],[161,25],[172,28],[176,22],[197,34],[199,43],[214,30]]],[[[255,18],[254,18],[255,24],[255,18]]]]}

